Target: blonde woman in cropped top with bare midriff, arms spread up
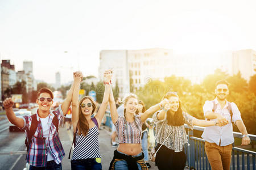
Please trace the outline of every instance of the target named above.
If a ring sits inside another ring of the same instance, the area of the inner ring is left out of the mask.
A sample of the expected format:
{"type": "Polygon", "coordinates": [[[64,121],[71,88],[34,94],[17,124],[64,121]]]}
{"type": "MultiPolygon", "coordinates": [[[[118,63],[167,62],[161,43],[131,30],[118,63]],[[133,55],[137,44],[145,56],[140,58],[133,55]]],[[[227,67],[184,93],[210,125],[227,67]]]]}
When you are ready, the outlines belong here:
{"type": "Polygon", "coordinates": [[[161,101],[149,108],[143,114],[135,114],[138,106],[136,95],[125,97],[124,117],[118,117],[115,107],[112,88],[110,88],[110,113],[113,124],[117,129],[119,146],[114,151],[114,158],[110,163],[109,169],[147,169],[144,164],[144,154],[141,146],[142,122],[144,122],[152,113],[160,109],[160,105],[167,103],[167,99],[161,101]]]}

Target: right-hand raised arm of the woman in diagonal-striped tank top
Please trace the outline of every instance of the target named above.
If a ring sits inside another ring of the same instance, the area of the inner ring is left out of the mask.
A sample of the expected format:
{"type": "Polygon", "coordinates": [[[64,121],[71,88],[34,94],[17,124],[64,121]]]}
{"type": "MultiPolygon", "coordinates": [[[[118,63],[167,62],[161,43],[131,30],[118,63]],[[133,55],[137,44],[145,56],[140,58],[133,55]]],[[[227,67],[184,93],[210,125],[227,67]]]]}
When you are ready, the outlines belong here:
{"type": "Polygon", "coordinates": [[[98,125],[100,127],[100,122],[102,121],[102,118],[104,117],[106,107],[108,106],[108,101],[109,101],[109,93],[110,93],[110,79],[111,79],[112,74],[110,73],[109,70],[105,71],[104,73],[104,82],[105,82],[105,91],[103,95],[103,100],[101,103],[100,108],[98,109],[98,113],[96,114],[96,119],[98,121],[98,125]]]}

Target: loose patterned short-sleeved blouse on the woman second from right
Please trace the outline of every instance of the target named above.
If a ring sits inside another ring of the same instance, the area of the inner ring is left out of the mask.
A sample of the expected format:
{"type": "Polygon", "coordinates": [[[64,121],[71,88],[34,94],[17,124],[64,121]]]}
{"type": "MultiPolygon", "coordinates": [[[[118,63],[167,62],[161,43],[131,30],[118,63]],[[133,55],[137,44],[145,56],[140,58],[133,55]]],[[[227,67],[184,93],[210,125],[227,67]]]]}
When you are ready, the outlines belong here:
{"type": "MultiPolygon", "coordinates": [[[[159,111],[154,113],[152,117],[154,123],[156,124],[156,142],[162,144],[163,141],[171,133],[171,135],[168,137],[166,142],[163,143],[163,145],[170,148],[171,150],[174,150],[175,152],[181,152],[183,150],[183,145],[188,142],[184,125],[168,125],[166,116],[164,117],[163,120],[158,120],[158,118],[156,117],[158,113],[159,111]]],[[[192,121],[195,117],[185,112],[183,112],[182,114],[184,117],[185,124],[187,124],[189,128],[193,129],[192,121]]]]}

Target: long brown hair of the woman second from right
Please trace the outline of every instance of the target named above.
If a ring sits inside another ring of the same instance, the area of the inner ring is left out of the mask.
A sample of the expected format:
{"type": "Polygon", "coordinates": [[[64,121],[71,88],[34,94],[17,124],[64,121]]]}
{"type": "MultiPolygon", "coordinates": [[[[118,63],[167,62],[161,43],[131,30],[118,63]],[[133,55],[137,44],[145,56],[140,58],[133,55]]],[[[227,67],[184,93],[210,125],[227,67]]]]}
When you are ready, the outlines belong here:
{"type": "MultiPolygon", "coordinates": [[[[170,97],[177,97],[179,99],[179,96],[176,92],[167,92],[166,95],[164,95],[163,99],[169,99],[170,97]]],[[[163,100],[162,99],[162,100],[163,100]]],[[[177,112],[174,113],[174,116],[172,116],[171,111],[167,111],[167,124],[171,126],[181,126],[184,125],[184,117],[182,114],[182,108],[181,108],[181,101],[179,99],[179,108],[177,109],[177,112]]]]}

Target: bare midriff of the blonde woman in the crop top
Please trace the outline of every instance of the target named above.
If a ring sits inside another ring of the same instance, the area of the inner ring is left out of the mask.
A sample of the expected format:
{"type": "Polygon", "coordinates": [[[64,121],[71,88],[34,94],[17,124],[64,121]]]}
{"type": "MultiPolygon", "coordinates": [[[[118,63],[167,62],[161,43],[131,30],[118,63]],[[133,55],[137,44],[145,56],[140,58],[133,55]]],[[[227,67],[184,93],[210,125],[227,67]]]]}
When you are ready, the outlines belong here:
{"type": "Polygon", "coordinates": [[[117,151],[134,156],[141,153],[141,149],[141,143],[119,143],[117,151]]]}

